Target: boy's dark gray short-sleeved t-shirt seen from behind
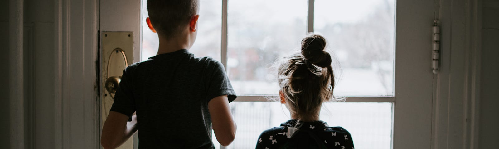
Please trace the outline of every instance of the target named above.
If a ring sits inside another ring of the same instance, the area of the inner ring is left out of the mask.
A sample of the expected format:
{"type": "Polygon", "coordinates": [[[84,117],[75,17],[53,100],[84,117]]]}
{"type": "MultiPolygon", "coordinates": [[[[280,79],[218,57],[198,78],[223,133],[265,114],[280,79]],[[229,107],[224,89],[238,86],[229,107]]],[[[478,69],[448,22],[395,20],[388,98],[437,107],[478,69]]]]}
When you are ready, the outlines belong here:
{"type": "Polygon", "coordinates": [[[128,66],[110,111],[137,112],[139,149],[214,149],[208,102],[236,93],[224,66],[187,50],[128,66]]]}

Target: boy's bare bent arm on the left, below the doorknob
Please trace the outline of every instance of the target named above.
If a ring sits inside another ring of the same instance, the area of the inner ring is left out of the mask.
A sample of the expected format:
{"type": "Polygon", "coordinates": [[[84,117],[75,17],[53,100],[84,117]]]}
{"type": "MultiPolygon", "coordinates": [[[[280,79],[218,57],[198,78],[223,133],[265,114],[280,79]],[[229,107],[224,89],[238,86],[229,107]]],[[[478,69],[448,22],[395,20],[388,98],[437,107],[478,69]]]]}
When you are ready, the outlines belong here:
{"type": "Polygon", "coordinates": [[[118,148],[137,131],[137,115],[132,116],[131,122],[128,122],[128,118],[119,112],[109,112],[100,138],[100,144],[104,149],[118,148]]]}

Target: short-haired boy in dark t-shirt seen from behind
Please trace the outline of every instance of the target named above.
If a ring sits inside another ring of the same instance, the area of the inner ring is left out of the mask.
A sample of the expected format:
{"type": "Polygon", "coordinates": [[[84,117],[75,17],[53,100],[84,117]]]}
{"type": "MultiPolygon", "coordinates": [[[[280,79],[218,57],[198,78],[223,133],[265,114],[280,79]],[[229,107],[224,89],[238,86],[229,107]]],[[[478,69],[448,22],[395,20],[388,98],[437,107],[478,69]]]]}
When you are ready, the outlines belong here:
{"type": "Polygon", "coordinates": [[[236,94],[224,67],[188,52],[196,40],[198,6],[198,0],[147,1],[158,55],[123,71],[102,128],[105,149],[117,148],[137,130],[140,149],[214,149],[212,124],[221,145],[234,140],[229,102],[236,94]]]}

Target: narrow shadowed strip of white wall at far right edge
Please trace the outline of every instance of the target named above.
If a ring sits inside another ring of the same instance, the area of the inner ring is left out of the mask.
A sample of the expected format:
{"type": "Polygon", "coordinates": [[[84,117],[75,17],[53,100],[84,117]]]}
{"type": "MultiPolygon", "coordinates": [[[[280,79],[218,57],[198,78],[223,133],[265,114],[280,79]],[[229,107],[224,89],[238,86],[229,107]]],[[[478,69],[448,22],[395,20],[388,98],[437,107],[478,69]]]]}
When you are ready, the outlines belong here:
{"type": "Polygon", "coordinates": [[[499,0],[483,0],[479,149],[499,148],[499,0]]]}

